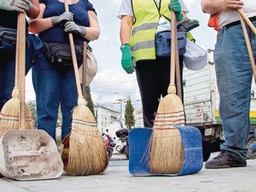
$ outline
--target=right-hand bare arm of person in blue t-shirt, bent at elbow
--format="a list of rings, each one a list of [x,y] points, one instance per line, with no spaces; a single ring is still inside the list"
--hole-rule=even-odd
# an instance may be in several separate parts
[[[93,11],[88,11],[90,27],[85,27],[86,34],[85,39],[93,41],[99,38],[100,36],[100,25],[97,19],[96,14]]]

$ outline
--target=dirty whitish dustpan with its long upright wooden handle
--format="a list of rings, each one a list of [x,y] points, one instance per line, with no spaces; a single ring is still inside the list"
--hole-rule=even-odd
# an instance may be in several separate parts
[[[0,138],[0,172],[6,178],[22,181],[58,178],[63,172],[63,163],[55,141],[43,130],[25,130],[24,13],[19,13],[18,22],[19,130],[9,130]]]

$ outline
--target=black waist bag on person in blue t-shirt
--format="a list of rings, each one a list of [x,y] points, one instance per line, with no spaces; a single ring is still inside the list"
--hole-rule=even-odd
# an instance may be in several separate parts
[[[73,68],[70,44],[44,42],[43,53],[46,59],[60,72]],[[82,62],[83,45],[75,45],[78,64]]]

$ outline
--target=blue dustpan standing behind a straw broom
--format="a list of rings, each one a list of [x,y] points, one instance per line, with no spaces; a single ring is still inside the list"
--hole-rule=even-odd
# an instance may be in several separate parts
[[[203,167],[203,152],[201,133],[198,128],[179,127],[184,149],[184,164],[179,174],[167,176],[182,176],[199,172]],[[149,142],[152,129],[135,128],[129,133],[129,172],[134,176],[154,176],[148,167]]]

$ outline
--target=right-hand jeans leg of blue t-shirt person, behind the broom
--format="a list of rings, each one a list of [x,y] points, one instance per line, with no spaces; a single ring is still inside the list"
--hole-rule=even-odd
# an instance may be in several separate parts
[[[64,76],[61,94],[61,112],[62,112],[62,140],[71,131],[72,109],[77,105],[78,93],[75,82],[74,71],[67,72]]]

